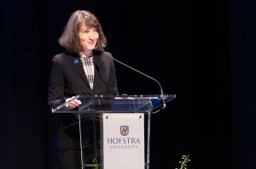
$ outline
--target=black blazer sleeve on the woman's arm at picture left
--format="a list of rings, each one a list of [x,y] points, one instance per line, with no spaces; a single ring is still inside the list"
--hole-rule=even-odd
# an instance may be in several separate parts
[[[48,86],[48,105],[55,107],[65,102],[64,75],[61,67],[60,55],[55,55],[51,62]]]

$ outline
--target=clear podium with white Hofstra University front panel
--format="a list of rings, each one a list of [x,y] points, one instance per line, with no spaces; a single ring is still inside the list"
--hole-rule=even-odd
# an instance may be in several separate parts
[[[52,113],[76,115],[82,169],[149,169],[151,115],[175,98],[175,94],[82,95],[73,98],[82,103],[77,109],[69,110],[65,103]],[[86,121],[93,130],[93,158],[89,162],[85,161],[87,148],[83,144]]]

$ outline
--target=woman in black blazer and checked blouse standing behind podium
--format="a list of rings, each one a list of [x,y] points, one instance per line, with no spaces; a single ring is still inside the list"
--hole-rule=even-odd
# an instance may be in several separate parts
[[[48,104],[55,107],[76,95],[118,94],[115,69],[111,55],[104,51],[107,39],[96,16],[90,11],[75,11],[59,39],[66,49],[52,59],[49,76]],[[108,55],[108,56],[107,56]],[[70,110],[81,102],[74,99],[67,104]],[[61,125],[56,148],[61,169],[81,168],[79,152],[78,119],[72,114],[61,115]],[[91,125],[86,127],[87,140],[83,145],[90,147]],[[90,152],[84,161],[90,161]]]

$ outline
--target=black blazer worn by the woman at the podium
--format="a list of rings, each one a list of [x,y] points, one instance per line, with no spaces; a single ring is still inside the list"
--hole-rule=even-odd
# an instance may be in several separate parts
[[[65,99],[75,95],[116,95],[118,94],[113,59],[110,53],[95,51],[95,80],[93,90],[85,76],[84,68],[78,54],[61,53],[52,59],[49,76],[48,104],[55,107],[65,102]],[[112,57],[112,56],[111,56]],[[77,147],[79,130],[75,115],[62,114],[58,147]],[[72,126],[72,127],[71,127]],[[91,127],[87,127],[90,132]],[[88,136],[89,137],[89,136]]]

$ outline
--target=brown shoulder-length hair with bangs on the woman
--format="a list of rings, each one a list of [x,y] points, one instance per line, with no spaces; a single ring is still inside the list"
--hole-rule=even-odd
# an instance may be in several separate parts
[[[96,28],[96,31],[99,33],[99,39],[95,49],[105,48],[107,45],[107,38],[102,31],[102,25],[96,16],[88,10],[77,10],[73,12],[59,39],[60,45],[71,53],[79,54],[79,52],[83,51],[84,47],[79,40],[79,28],[82,24],[89,28]]]

